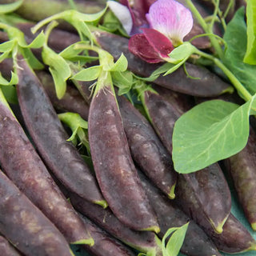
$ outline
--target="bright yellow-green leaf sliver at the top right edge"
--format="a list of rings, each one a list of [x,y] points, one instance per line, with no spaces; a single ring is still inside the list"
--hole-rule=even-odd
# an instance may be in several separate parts
[[[247,49],[244,62],[256,65],[256,1],[247,0],[246,6],[247,22]]]

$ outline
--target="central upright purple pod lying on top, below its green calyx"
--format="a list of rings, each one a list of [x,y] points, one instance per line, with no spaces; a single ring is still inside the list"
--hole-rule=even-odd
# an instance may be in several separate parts
[[[158,232],[158,222],[130,156],[121,114],[110,86],[94,95],[88,124],[94,170],[110,209],[134,230]]]

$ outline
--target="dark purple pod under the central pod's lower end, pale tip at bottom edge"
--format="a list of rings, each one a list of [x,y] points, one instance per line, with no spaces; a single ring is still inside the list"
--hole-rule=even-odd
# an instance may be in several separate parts
[[[69,194],[69,197],[71,204],[76,210],[90,218],[90,220],[115,238],[138,251],[151,253],[152,256],[162,255],[162,250],[159,246],[161,242],[154,232],[131,230],[120,222],[109,208],[103,209],[101,206],[87,202],[76,194]]]

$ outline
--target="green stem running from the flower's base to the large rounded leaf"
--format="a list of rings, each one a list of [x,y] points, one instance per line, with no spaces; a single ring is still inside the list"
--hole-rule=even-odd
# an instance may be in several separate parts
[[[242,83],[234,76],[234,74],[220,61],[220,59],[215,58],[214,56],[210,54],[206,54],[202,52],[201,50],[195,50],[195,54],[201,55],[204,58],[208,58],[214,62],[216,66],[218,66],[224,74],[226,74],[227,78],[230,79],[230,82],[232,82],[233,86],[236,90],[242,95],[242,98],[244,98],[247,101],[249,101],[252,98],[252,95],[249,93],[248,90],[244,86],[242,86]]]

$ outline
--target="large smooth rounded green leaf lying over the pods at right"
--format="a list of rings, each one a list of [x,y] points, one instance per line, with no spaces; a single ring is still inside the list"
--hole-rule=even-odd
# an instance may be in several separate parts
[[[242,150],[249,136],[253,100],[242,106],[212,100],[183,114],[174,125],[174,169],[188,174]]]

